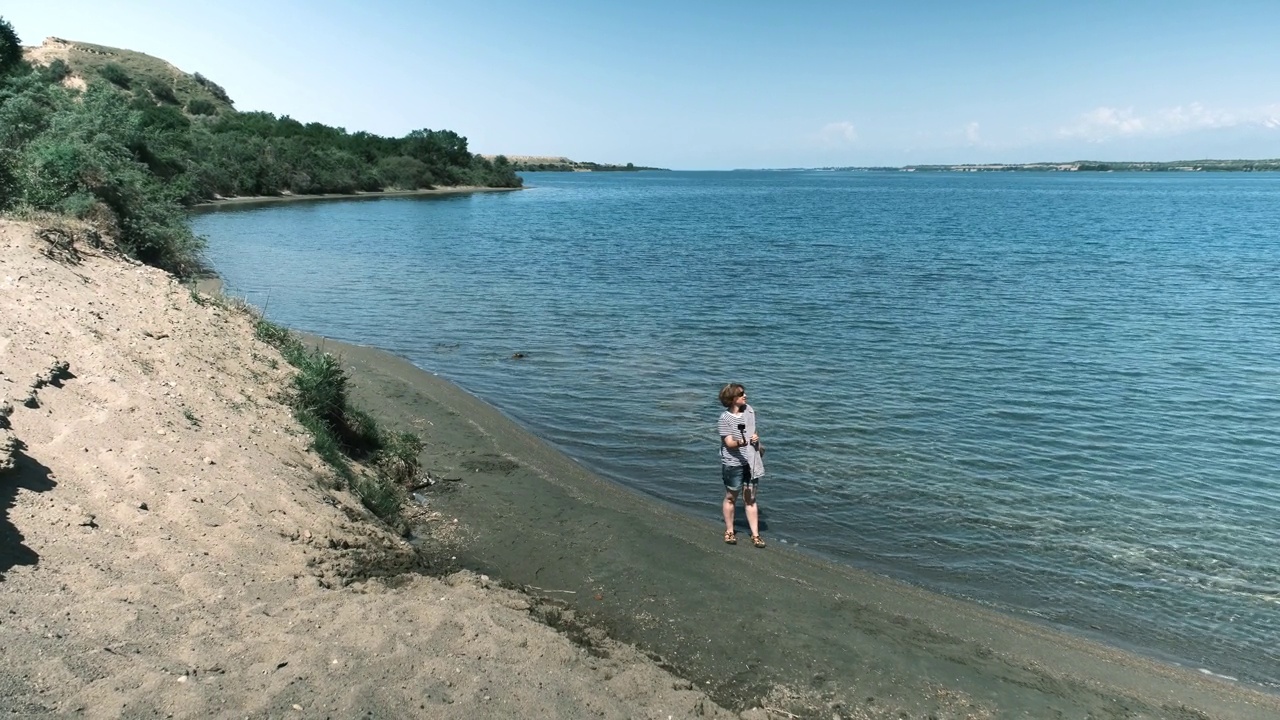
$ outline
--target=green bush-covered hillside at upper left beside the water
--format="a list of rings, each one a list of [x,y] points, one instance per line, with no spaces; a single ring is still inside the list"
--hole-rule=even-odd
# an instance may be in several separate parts
[[[142,53],[58,38],[24,53],[0,18],[0,213],[88,220],[179,275],[201,269],[186,209],[202,201],[520,184],[453,131],[239,113],[215,82]]]

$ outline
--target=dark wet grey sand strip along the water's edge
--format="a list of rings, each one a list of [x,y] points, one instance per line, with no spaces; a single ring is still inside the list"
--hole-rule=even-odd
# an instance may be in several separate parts
[[[357,404],[425,441],[453,562],[562,602],[727,707],[829,717],[1277,717],[1280,697],[722,528],[590,473],[388,352],[319,341]],[[708,514],[719,500],[707,473]],[[768,488],[762,488],[767,506]],[[780,715],[785,716],[785,715]]]

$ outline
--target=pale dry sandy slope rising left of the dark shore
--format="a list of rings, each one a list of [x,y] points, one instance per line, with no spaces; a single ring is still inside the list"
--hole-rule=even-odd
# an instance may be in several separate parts
[[[0,220],[0,712],[727,715],[488,578],[401,573],[420,557],[324,489],[244,315],[47,250]]]

